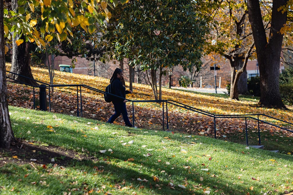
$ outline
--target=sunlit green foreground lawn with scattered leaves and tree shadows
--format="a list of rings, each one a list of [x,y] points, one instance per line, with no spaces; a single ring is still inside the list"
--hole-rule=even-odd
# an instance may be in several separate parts
[[[13,132],[22,141],[0,151],[0,194],[293,191],[291,155],[195,134],[12,106],[9,111]]]

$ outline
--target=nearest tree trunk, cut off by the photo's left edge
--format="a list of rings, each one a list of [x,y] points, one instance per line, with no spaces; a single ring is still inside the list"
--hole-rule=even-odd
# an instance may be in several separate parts
[[[9,148],[15,138],[11,128],[7,102],[3,1],[0,3],[0,32],[0,148]]]

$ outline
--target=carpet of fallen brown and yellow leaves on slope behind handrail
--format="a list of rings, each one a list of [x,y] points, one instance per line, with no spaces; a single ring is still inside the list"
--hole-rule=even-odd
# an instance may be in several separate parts
[[[36,80],[49,83],[47,73],[42,68],[32,68]],[[69,83],[70,82],[70,83]],[[79,74],[66,74],[56,71],[54,84],[86,84],[91,87],[103,90],[108,85],[109,80],[101,77],[93,77]],[[133,94],[127,95],[132,100],[152,100],[152,90],[147,85],[135,84]],[[38,102],[38,88],[36,88],[35,99]],[[274,108],[258,108],[254,106],[257,101],[236,101],[227,98],[213,97],[208,95],[188,93],[172,89],[163,88],[162,99],[172,99],[195,108],[208,111],[213,114],[256,114],[262,113],[281,120],[293,123],[292,107],[289,110],[279,110]],[[80,92],[79,92],[80,93]],[[48,92],[47,92],[48,95]],[[54,88],[50,94],[51,111],[77,116],[76,87]],[[80,99],[79,99],[80,101]],[[33,90],[31,87],[8,82],[8,103],[11,106],[18,106],[33,109]],[[38,103],[37,103],[38,104]],[[47,104],[48,106],[48,104]],[[37,106],[36,109],[39,107]],[[49,109],[49,107],[48,107]],[[164,128],[166,130],[166,106],[164,115]],[[103,94],[82,88],[82,110],[83,117],[106,122],[114,113],[112,103],[103,100]],[[132,121],[132,103],[127,103],[127,111]],[[80,113],[80,103],[79,103]],[[140,128],[162,130],[163,116],[162,104],[157,103],[134,103],[135,126]],[[257,118],[257,116],[255,116]],[[266,120],[266,118],[260,118]],[[276,123],[282,126],[283,123]],[[188,111],[173,105],[168,105],[168,122],[170,131],[180,131],[188,134],[198,134],[214,137],[214,121],[212,117]],[[118,125],[124,125],[120,116],[116,121]],[[255,120],[247,119],[247,127],[251,133],[258,132],[258,123]],[[291,130],[292,126],[284,126]],[[216,122],[216,136],[221,138],[229,137],[229,134],[239,134],[239,139],[244,139],[245,119],[222,118]],[[293,134],[277,127],[260,123],[261,132],[282,137],[292,137]]]

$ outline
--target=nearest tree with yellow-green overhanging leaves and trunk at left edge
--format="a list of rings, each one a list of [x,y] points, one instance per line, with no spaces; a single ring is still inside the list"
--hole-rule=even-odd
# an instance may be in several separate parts
[[[120,2],[125,4],[127,0]],[[103,32],[104,21],[111,18],[107,7],[116,6],[118,1],[19,0],[17,6],[16,1],[12,4],[13,9],[9,9],[8,5],[4,9],[4,1],[0,3],[0,147],[9,147],[14,141],[7,103],[4,55],[8,48],[4,47],[4,35],[8,39],[13,39],[16,46],[24,46],[25,42],[35,42],[39,47],[45,47],[54,38],[59,42],[71,43],[72,28],[76,26],[81,26],[89,33],[96,30]],[[41,25],[38,26],[37,23]],[[96,23],[99,24],[99,29]]]

